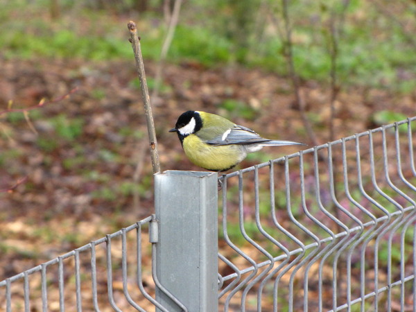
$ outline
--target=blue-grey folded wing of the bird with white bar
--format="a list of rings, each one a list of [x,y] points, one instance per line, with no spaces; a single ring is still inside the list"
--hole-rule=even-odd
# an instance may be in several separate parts
[[[213,146],[221,145],[248,145],[248,144],[259,144],[269,139],[264,139],[257,135],[253,130],[243,127],[242,125],[234,125],[233,128],[228,129],[220,135],[214,137],[214,139],[205,140],[205,143]]]

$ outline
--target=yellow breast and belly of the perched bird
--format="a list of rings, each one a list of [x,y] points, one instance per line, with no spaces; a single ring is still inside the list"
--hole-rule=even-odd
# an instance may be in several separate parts
[[[185,137],[183,148],[193,164],[211,171],[226,171],[239,164],[246,155],[240,146],[211,146],[196,135]]]

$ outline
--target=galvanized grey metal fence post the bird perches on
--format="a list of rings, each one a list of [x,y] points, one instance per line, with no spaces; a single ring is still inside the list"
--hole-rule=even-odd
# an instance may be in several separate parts
[[[157,279],[188,311],[218,311],[217,174],[157,173],[155,212]],[[182,311],[159,288],[156,300],[168,311]]]

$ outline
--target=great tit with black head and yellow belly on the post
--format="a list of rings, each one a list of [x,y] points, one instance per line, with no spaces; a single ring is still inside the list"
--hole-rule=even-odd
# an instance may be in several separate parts
[[[264,139],[242,125],[216,114],[189,110],[180,115],[175,128],[184,152],[197,166],[209,171],[227,171],[239,164],[247,153],[263,146],[304,145],[292,141]]]

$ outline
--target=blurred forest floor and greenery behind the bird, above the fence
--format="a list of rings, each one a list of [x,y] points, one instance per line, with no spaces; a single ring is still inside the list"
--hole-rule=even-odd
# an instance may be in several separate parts
[[[0,280],[153,211],[129,20],[162,170],[199,170],[186,110],[310,146],[415,114],[416,1],[0,0]]]

